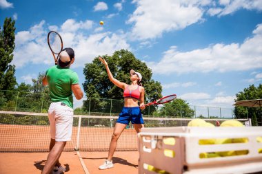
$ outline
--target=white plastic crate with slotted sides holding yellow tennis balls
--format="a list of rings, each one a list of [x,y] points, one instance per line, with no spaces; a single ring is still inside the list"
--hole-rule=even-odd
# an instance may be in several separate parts
[[[262,137],[262,127],[143,128],[138,137],[139,174],[262,173],[262,153],[259,153],[262,143],[256,140]],[[199,144],[199,140],[220,138],[247,138],[248,142]],[[173,139],[174,144],[165,144],[168,139]],[[248,154],[199,157],[201,153],[221,151],[248,151]]]

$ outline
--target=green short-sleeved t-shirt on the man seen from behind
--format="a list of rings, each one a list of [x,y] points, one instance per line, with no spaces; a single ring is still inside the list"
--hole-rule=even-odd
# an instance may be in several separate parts
[[[69,68],[55,65],[46,71],[46,77],[48,79],[51,101],[64,102],[68,107],[73,108],[71,85],[79,83],[77,73]]]

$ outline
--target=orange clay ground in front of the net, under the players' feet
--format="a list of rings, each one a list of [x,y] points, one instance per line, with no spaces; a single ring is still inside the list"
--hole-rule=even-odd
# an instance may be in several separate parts
[[[108,152],[85,152],[80,155],[90,174],[114,173],[135,174],[138,173],[139,152],[116,151],[113,157],[114,168],[99,170]],[[1,174],[35,174],[41,173],[48,153],[0,153]],[[60,157],[61,164],[66,167],[65,174],[85,174],[79,157],[75,151],[63,152]]]

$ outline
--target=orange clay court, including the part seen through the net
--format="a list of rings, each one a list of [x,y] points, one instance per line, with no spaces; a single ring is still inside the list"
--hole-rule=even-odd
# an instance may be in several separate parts
[[[77,129],[73,128],[72,141],[66,144],[60,158],[66,173],[138,173],[139,153],[134,129],[123,131],[113,158],[114,168],[105,171],[98,167],[108,155],[114,128],[81,127],[79,142]],[[1,173],[41,173],[48,156],[48,126],[0,124],[0,140]],[[74,150],[77,143],[79,155]]]

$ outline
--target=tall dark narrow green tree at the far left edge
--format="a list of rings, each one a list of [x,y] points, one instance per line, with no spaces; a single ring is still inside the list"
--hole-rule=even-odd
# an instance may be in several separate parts
[[[3,24],[3,30],[0,27],[0,90],[13,90],[17,85],[14,77],[15,66],[10,65],[14,51],[14,21],[6,18]],[[9,97],[10,96],[6,96]]]

